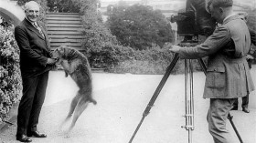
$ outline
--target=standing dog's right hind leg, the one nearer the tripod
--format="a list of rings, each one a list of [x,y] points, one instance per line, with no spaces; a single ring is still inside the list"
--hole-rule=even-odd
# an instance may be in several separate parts
[[[71,122],[71,125],[69,127],[69,131],[74,128],[78,118],[80,117],[81,113],[85,110],[85,108],[88,106],[89,104],[89,99],[87,97],[81,97],[80,101],[77,105],[77,107],[75,108],[74,114],[73,114],[73,120]]]

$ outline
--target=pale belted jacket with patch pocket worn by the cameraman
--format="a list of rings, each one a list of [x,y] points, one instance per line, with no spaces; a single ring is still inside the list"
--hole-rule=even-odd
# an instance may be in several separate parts
[[[216,27],[201,45],[181,48],[181,58],[208,56],[204,98],[245,97],[254,90],[246,55],[251,47],[248,27],[238,15]]]

